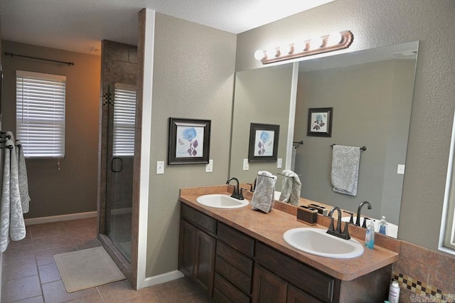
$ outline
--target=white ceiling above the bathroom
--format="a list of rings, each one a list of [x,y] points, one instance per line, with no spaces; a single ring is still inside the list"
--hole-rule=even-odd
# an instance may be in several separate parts
[[[138,12],[242,33],[334,0],[0,0],[1,38],[99,54],[103,39],[137,45]]]

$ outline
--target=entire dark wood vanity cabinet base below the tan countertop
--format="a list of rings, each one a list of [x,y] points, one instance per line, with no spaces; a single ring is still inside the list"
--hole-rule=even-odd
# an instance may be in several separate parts
[[[344,281],[181,203],[178,269],[213,302],[382,302],[392,265]]]

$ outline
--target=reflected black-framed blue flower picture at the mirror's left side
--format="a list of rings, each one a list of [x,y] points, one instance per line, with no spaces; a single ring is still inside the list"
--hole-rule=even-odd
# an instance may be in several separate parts
[[[279,125],[251,123],[248,161],[277,161],[278,139]]]

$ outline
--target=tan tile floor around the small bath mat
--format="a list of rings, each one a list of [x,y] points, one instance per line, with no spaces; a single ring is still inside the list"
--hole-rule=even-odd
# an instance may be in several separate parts
[[[96,218],[27,226],[26,238],[3,254],[1,302],[210,302],[185,277],[139,291],[123,280],[66,292],[53,255],[99,245]]]

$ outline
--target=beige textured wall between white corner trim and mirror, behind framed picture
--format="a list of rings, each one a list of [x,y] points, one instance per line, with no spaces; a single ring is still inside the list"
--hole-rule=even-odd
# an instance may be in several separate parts
[[[156,14],[146,277],[177,268],[179,188],[228,179],[235,39]],[[205,173],[205,164],[190,164],[165,165],[164,174],[155,174],[156,161],[167,163],[169,117],[212,120],[212,173]]]

